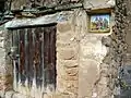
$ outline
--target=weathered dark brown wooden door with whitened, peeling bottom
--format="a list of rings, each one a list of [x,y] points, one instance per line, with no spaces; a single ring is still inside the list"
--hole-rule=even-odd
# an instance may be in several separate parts
[[[53,90],[56,26],[20,28],[12,32],[14,90],[23,89],[24,94],[36,89],[40,93],[47,88]]]

